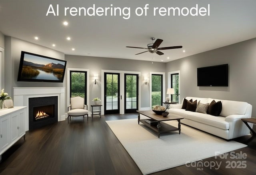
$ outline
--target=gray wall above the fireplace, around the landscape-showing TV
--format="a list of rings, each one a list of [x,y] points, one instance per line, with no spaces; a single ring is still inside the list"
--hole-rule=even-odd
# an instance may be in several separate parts
[[[64,60],[64,53],[26,42],[10,36],[5,36],[5,88],[13,97],[13,87],[65,87],[64,83],[48,82],[17,82],[21,51],[32,52],[52,58]]]

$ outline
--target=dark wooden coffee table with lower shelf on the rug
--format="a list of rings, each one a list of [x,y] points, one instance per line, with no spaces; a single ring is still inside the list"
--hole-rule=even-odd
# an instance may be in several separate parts
[[[158,133],[158,138],[160,137],[160,133],[165,133],[169,131],[179,131],[180,134],[180,120],[184,119],[184,117],[181,117],[180,115],[176,114],[169,114],[167,117],[164,117],[162,115],[157,115],[152,110],[147,111],[137,111],[139,113],[138,115],[138,124],[143,123],[147,127],[153,129]],[[149,117],[150,119],[153,119],[155,124],[149,124],[146,122],[147,119],[140,119],[140,114],[145,115],[146,117]],[[178,128],[174,127],[172,125],[168,125],[166,123],[163,123],[161,121],[170,121],[170,120],[177,120],[178,121]]]

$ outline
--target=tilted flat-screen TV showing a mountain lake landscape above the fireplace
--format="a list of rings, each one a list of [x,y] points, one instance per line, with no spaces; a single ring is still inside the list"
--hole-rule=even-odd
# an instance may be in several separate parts
[[[65,60],[22,51],[18,81],[63,82],[65,69]]]

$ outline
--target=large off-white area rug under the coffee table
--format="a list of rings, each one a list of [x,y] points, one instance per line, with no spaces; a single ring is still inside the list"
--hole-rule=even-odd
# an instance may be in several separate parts
[[[142,119],[142,117],[141,117]],[[197,129],[181,125],[181,133],[158,134],[138,119],[106,121],[143,174],[177,167],[200,159],[246,147],[236,141],[225,141]],[[178,126],[177,121],[166,123]]]

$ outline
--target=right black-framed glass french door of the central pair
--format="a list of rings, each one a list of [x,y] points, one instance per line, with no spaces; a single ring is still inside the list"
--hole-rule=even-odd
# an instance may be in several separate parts
[[[138,110],[138,74],[124,74],[124,113]]]

